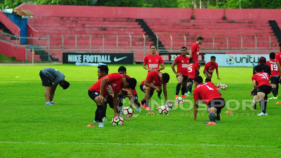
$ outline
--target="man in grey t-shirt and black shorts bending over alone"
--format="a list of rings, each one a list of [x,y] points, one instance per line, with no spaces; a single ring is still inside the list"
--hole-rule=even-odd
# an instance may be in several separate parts
[[[67,89],[69,87],[69,82],[65,80],[65,76],[63,73],[59,72],[54,68],[48,67],[44,68],[39,72],[39,76],[42,80],[42,86],[45,86],[45,105],[53,105],[56,102],[53,101],[56,86],[61,86],[63,89]],[[53,84],[54,83],[54,84]]]

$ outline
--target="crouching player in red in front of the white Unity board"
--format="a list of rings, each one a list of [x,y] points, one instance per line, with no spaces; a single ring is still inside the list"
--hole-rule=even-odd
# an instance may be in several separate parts
[[[218,65],[216,63],[216,57],[215,56],[211,56],[211,61],[207,62],[205,64],[205,68],[203,70],[203,73],[205,74],[205,82],[211,82],[211,78],[213,76],[213,72],[216,69],[216,73],[217,73],[217,79],[221,80],[219,77],[219,71],[217,70]]]

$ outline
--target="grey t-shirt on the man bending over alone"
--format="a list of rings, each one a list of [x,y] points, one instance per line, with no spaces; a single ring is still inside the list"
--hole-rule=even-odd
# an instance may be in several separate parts
[[[42,73],[49,78],[49,81],[55,84],[60,84],[64,80],[64,74],[52,67],[47,67],[41,70]]]

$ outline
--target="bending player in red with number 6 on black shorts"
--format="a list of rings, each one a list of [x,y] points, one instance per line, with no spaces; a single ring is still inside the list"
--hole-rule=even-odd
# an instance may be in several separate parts
[[[113,94],[113,110],[114,116],[119,116],[117,113],[117,102],[118,94],[122,88],[132,88],[136,87],[137,81],[134,78],[123,78],[121,74],[112,73],[102,77],[95,84],[93,84],[89,90],[89,97],[95,101],[97,105],[97,110],[95,112],[95,120],[93,123],[98,123],[99,127],[104,127],[102,121],[102,112],[105,96]]]

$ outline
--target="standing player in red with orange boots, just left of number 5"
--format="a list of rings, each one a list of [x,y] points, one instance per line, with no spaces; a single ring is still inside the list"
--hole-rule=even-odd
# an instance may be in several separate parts
[[[174,62],[171,65],[172,70],[176,74],[178,80],[175,98],[179,96],[180,88],[181,88],[181,97],[187,97],[186,95],[184,95],[186,91],[187,80],[188,80],[188,63],[189,63],[189,57],[186,56],[186,53],[187,53],[187,48],[181,47],[181,55],[177,56],[177,58],[175,58]],[[175,70],[176,64],[177,64],[177,71]]]

